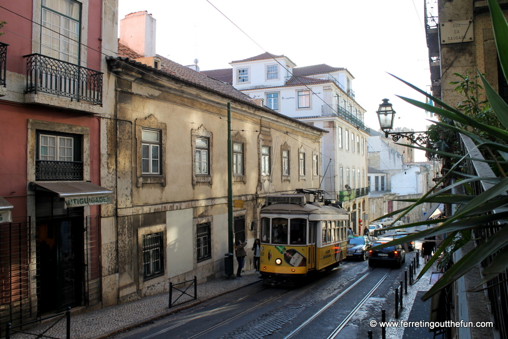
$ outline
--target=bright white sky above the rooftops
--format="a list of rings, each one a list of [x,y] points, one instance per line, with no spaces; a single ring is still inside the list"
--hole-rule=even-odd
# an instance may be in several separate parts
[[[424,1],[119,0],[118,18],[152,14],[156,53],[183,65],[198,59],[202,71],[265,51],[297,66],[345,67],[355,77],[366,125],[379,129],[375,111],[388,98],[397,112],[394,127],[421,131],[430,124],[425,112],[396,95],[425,97],[389,73],[430,91]]]

